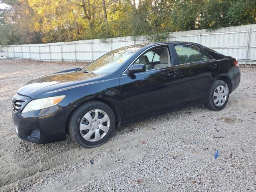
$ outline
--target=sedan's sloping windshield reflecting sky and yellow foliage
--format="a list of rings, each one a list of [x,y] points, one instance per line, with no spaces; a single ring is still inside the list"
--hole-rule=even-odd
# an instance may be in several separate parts
[[[94,62],[90,63],[88,66],[84,67],[81,71],[93,73],[112,73],[126,60],[128,60],[135,52],[144,46],[145,44],[140,44],[110,51]]]

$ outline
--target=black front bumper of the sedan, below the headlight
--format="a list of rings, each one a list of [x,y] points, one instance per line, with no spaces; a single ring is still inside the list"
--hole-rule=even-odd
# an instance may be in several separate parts
[[[12,110],[12,120],[19,138],[40,144],[66,140],[66,122],[74,107],[56,105],[20,113],[31,99],[18,94],[14,97],[27,101],[17,112]]]

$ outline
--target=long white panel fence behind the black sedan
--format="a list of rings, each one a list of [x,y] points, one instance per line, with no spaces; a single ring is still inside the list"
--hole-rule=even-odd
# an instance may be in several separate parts
[[[256,24],[220,28],[214,31],[192,30],[172,32],[167,41],[196,42],[226,56],[239,60],[240,64],[256,64]],[[27,58],[51,61],[92,61],[103,54],[128,45],[148,42],[141,37],[108,38],[59,42],[49,44],[2,46],[7,58]]]

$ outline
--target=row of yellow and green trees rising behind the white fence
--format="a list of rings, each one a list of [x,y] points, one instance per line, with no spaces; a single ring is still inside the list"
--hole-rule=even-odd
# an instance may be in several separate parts
[[[169,32],[256,23],[252,0],[2,0],[1,44],[119,36],[165,41]]]

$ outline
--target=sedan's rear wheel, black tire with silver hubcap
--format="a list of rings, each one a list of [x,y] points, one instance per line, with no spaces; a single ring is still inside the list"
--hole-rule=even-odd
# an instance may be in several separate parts
[[[219,93],[220,94],[219,94]],[[216,80],[212,87],[210,88],[207,103],[205,104],[206,108],[220,111],[222,110],[229,98],[229,88],[226,82],[222,80]]]

